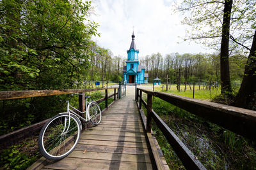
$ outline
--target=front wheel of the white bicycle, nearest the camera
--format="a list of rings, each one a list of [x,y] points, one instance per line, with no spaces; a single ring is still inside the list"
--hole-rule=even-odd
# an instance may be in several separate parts
[[[68,113],[56,115],[40,131],[39,150],[46,159],[63,159],[76,147],[80,131],[77,117],[70,115],[69,118]]]

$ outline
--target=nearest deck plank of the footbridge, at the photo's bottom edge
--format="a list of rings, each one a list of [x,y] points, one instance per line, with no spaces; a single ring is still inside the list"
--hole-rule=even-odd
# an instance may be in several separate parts
[[[150,163],[123,162],[115,160],[74,159],[67,157],[45,166],[52,169],[153,169]]]

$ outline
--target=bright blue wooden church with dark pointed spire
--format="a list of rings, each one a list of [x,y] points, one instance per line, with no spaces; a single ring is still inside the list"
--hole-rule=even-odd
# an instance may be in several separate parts
[[[145,67],[141,66],[138,60],[139,50],[136,49],[134,38],[134,32],[132,32],[132,43],[130,49],[127,50],[128,59],[125,61],[123,78],[127,83],[148,83],[148,74],[145,73]]]

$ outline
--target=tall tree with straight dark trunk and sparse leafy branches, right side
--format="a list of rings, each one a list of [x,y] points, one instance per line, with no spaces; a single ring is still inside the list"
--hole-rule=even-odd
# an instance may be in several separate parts
[[[183,21],[192,27],[186,40],[199,40],[216,50],[221,45],[221,94],[231,91],[228,57],[234,52],[250,50],[246,45],[252,41],[253,29],[250,29],[250,24],[255,22],[253,8],[254,0],[186,0],[178,8],[180,11],[191,12]],[[232,42],[229,44],[230,40]]]

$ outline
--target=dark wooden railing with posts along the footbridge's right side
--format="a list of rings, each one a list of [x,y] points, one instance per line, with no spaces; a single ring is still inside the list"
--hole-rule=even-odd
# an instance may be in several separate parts
[[[142,99],[142,92],[147,94],[147,103]],[[214,124],[221,125],[222,127],[236,132],[241,136],[254,141],[256,139],[256,111],[136,88],[135,99],[138,101],[140,111],[142,104],[147,108],[146,131],[148,133],[151,131],[151,121],[153,119],[156,122],[157,127],[159,127],[163,132],[175,153],[177,153],[177,156],[182,161],[182,164],[184,164],[186,169],[205,169],[205,167],[174,134],[168,125],[164,123],[157,113],[152,110],[153,96],[159,97],[160,99],[189,111],[198,117],[205,118],[205,120]]]

